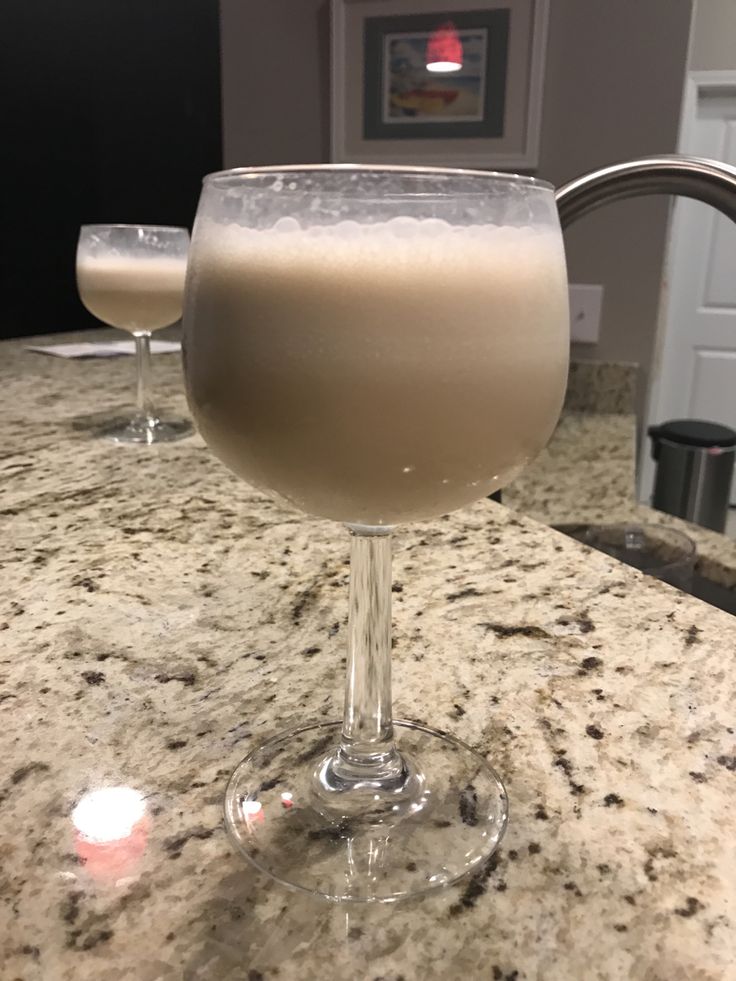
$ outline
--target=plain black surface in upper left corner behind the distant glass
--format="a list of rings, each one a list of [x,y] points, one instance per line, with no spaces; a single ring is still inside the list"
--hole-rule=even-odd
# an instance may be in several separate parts
[[[217,0],[2,0],[0,336],[93,326],[79,225],[191,225],[221,166]]]

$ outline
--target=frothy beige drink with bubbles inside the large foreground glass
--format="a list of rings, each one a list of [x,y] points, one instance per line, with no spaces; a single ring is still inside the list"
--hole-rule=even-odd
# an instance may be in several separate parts
[[[555,426],[569,320],[552,229],[200,219],[190,277],[200,431],[302,510],[436,516],[506,483]]]

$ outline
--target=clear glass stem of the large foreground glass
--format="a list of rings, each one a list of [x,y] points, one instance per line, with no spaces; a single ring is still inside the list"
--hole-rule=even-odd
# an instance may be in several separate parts
[[[391,528],[350,527],[347,681],[340,757],[360,770],[399,762],[391,723]]]

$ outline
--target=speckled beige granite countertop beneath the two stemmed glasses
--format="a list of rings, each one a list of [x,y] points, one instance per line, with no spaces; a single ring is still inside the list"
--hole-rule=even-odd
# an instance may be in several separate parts
[[[154,371],[182,410],[178,357]],[[488,755],[509,830],[422,901],[300,896],[221,799],[254,741],[339,714],[346,536],[199,437],[95,439],[131,360],[4,343],[0,384],[3,978],[736,977],[732,617],[491,502],[403,529],[396,713]],[[112,850],[70,819],[110,786],[146,806]]]

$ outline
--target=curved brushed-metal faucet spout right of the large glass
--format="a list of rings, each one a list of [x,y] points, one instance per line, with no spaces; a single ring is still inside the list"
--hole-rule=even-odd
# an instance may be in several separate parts
[[[559,188],[555,200],[565,228],[609,201],[647,194],[695,198],[736,221],[736,167],[677,154],[642,157],[591,171]]]

